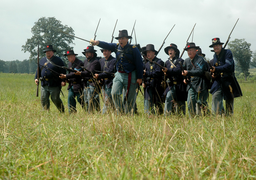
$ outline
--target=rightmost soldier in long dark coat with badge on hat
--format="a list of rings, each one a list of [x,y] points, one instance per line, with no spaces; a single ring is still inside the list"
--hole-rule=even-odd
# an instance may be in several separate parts
[[[225,113],[223,108],[223,98],[226,103],[226,115],[234,114],[234,98],[240,97],[242,91],[235,77],[235,62],[233,54],[229,49],[222,47],[224,43],[220,38],[213,38],[212,45],[215,54],[213,55],[214,82],[210,93],[212,94],[212,112],[218,114]]]

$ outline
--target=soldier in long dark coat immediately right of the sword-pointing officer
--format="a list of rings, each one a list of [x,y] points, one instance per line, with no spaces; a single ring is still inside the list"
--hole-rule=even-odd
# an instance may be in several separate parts
[[[163,88],[161,86],[163,71],[154,62],[157,62],[161,66],[164,66],[164,62],[156,57],[158,52],[155,50],[153,44],[148,44],[143,54],[147,54],[147,58],[149,59],[143,74],[147,79],[147,84],[144,84],[144,88],[146,88],[144,111],[148,115],[155,113],[155,105],[156,111],[160,115],[163,113],[163,101],[161,98],[163,94]]]

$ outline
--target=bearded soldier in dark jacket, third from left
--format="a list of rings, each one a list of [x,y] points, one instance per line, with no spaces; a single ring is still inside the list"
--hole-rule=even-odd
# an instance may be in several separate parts
[[[96,50],[93,46],[88,46],[82,52],[86,59],[84,60],[85,71],[77,71],[76,75],[81,75],[84,77],[84,102],[88,112],[92,112],[94,109],[100,111],[100,87],[99,83],[95,78],[93,78],[96,73],[95,70],[100,71],[100,61],[96,59]]]

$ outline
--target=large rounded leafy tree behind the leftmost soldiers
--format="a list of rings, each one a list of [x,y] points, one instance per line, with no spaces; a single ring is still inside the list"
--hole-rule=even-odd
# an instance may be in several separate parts
[[[37,62],[37,46],[39,43],[39,59],[45,56],[43,50],[49,44],[52,44],[56,50],[56,55],[60,56],[65,54],[67,50],[73,49],[70,44],[74,44],[74,37],[64,34],[60,31],[67,32],[68,34],[74,34],[74,30],[67,25],[62,25],[61,21],[54,17],[39,18],[35,25],[32,27],[32,37],[27,39],[25,45],[22,45],[22,51],[29,52],[29,61]],[[67,61],[67,60],[66,60]]]

